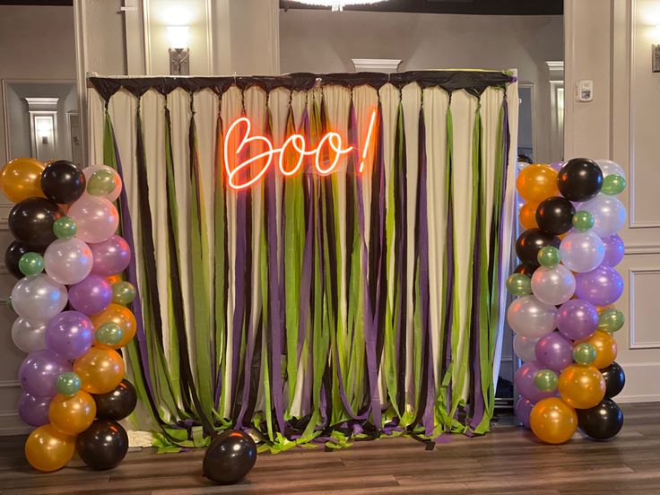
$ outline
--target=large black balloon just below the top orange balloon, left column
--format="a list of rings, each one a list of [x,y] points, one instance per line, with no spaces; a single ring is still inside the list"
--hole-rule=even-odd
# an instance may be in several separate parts
[[[56,239],[53,223],[63,214],[52,201],[30,197],[14,204],[9,213],[9,230],[12,230],[13,237],[30,246],[46,248]]]

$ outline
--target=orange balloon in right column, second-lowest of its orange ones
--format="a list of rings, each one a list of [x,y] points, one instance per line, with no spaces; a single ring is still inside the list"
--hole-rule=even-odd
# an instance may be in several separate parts
[[[560,373],[561,399],[576,409],[589,409],[605,396],[605,379],[594,366],[571,364]]]

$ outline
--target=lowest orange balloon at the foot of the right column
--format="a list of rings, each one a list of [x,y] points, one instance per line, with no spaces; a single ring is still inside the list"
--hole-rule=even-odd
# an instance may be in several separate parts
[[[560,444],[569,441],[575,433],[577,414],[557,397],[550,397],[534,405],[529,415],[529,425],[539,439]]]

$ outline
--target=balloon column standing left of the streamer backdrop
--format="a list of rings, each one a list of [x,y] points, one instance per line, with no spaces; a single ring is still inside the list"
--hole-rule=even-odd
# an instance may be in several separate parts
[[[93,468],[117,465],[128,449],[117,421],[136,400],[117,352],[135,335],[125,306],[135,287],[108,280],[131,256],[115,235],[121,179],[105,165],[16,159],[0,170],[0,188],[16,203],[9,214],[15,240],[4,260],[20,279],[10,298],[18,315],[13,342],[28,353],[18,410],[36,429],[25,456],[44,472],[65,466],[76,450]]]

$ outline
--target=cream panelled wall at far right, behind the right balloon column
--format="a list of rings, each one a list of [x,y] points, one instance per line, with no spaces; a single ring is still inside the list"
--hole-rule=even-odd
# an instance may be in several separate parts
[[[567,156],[611,158],[628,175],[626,256],[617,267],[626,283],[617,307],[627,318],[615,334],[628,378],[620,399],[659,401],[660,74],[651,72],[651,44],[660,42],[660,1],[565,0],[564,13]],[[594,81],[594,101],[573,100],[580,79]]]

